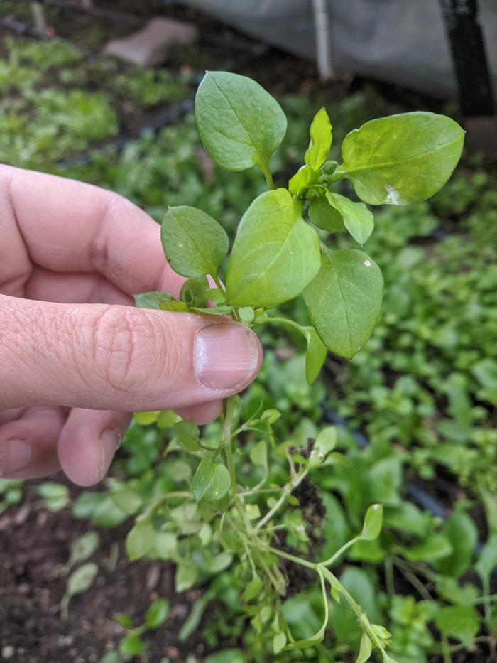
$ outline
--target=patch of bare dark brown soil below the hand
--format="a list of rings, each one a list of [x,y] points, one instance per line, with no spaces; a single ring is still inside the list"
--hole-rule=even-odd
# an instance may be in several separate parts
[[[126,634],[114,616],[126,613],[133,625],[140,625],[158,597],[170,600],[171,612],[162,627],[144,637],[149,647],[146,660],[202,660],[200,637],[194,634],[186,644],[178,642],[178,631],[200,591],[176,594],[173,566],[168,563],[130,563],[124,551],[126,524],[99,530],[100,545],[90,558],[99,567],[97,578],[86,593],[71,599],[67,622],[61,619],[67,576],[58,573],[72,541],[87,529],[88,524],[73,519],[70,510],[47,512],[35,495],[0,518],[0,660],[96,663]]]

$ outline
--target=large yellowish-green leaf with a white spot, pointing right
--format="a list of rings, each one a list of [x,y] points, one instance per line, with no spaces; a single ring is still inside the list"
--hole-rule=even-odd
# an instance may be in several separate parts
[[[447,182],[463,143],[464,131],[443,115],[415,112],[381,117],[345,136],[341,170],[365,203],[416,203]]]

